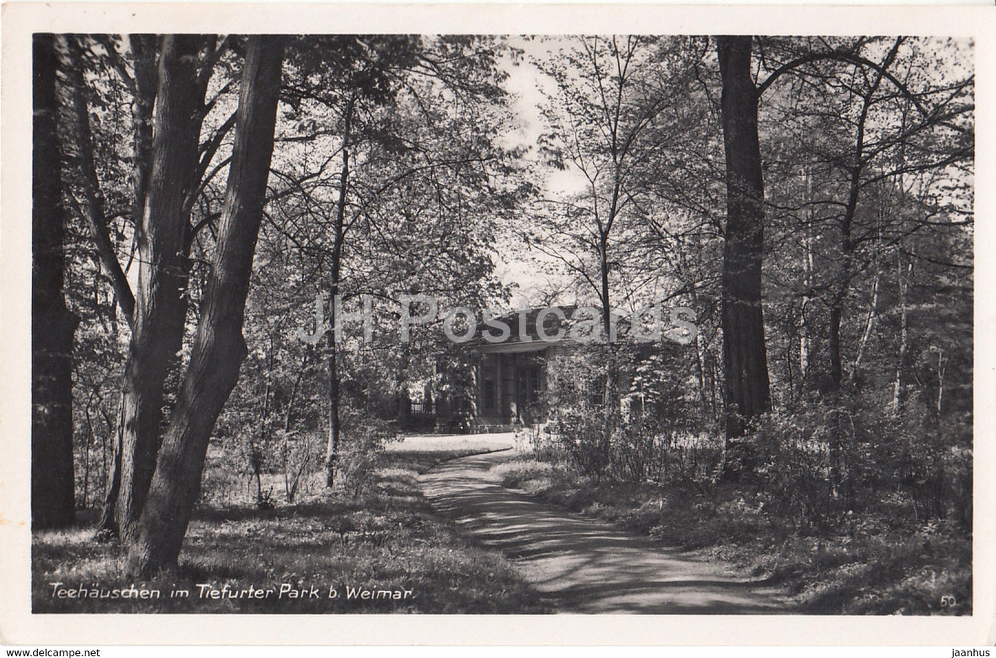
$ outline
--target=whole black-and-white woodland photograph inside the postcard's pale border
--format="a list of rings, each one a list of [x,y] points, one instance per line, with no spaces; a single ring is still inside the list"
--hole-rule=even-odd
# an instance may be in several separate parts
[[[633,11],[29,31],[33,618],[991,613],[976,38]]]

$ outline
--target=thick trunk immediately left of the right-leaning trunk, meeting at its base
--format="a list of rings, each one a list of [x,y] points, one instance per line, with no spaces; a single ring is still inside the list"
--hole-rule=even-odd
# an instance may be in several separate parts
[[[186,316],[185,186],[197,164],[202,37],[162,39],[145,206],[138,223],[138,286],[124,369],[116,472],[102,532],[131,537],[155,468],[166,374],[180,350]],[[118,470],[120,469],[120,471]],[[116,490],[117,489],[117,490]]]

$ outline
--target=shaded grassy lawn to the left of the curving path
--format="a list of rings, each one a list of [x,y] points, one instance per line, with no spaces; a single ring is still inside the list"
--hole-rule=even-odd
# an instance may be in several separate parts
[[[316,487],[317,493],[293,505],[278,504],[275,509],[257,509],[248,503],[202,503],[190,523],[178,570],[147,581],[121,576],[121,549],[95,543],[89,524],[35,533],[33,610],[551,611],[501,556],[471,545],[421,497],[418,472],[444,458],[467,454],[467,446],[441,442],[434,448],[428,443],[415,449],[405,449],[403,444],[391,448],[373,486],[357,499]],[[211,468],[215,470],[208,481],[217,487],[225,478],[216,470],[217,463]],[[245,488],[244,482],[231,482],[230,486]],[[55,595],[53,582],[71,589],[82,585],[88,590],[103,590],[109,596],[61,598]],[[111,598],[113,589],[130,590],[132,585],[136,590],[158,589],[159,597]],[[335,598],[329,596],[332,588],[336,589]],[[269,594],[268,589],[272,590]],[[171,596],[176,590],[187,590],[189,595]],[[219,591],[217,598],[212,597],[212,590]],[[364,590],[373,593],[364,597]],[[233,598],[230,591],[242,595]]]

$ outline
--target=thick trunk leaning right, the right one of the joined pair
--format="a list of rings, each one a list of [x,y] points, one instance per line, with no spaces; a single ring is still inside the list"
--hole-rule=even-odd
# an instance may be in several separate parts
[[[218,247],[190,365],[128,552],[133,573],[176,564],[211,430],[246,355],[242,323],[273,154],[282,59],[280,38],[249,39]]]

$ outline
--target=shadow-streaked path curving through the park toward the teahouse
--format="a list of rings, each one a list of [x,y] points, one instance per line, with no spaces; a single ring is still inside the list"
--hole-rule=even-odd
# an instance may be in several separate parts
[[[504,450],[452,459],[419,481],[433,507],[511,558],[558,611],[788,611],[775,587],[502,487],[489,469],[508,456]]]

